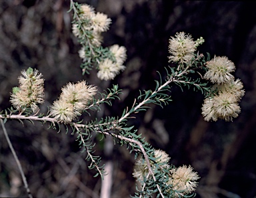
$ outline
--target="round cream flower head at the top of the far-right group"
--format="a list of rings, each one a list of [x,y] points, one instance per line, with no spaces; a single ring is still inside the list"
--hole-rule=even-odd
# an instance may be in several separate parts
[[[206,68],[208,70],[204,78],[213,83],[223,84],[234,78],[230,72],[235,70],[235,64],[226,56],[214,56],[212,60],[207,62]]]

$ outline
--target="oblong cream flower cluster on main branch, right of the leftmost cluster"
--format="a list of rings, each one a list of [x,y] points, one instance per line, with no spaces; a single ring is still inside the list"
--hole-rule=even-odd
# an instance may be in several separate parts
[[[89,106],[96,92],[97,88],[87,85],[84,80],[76,84],[69,82],[62,88],[59,100],[53,102],[50,116],[53,116],[58,122],[71,122]]]

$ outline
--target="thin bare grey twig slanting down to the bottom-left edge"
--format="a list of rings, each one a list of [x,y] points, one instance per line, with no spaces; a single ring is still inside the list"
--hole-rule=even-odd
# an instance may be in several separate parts
[[[21,177],[22,177],[25,189],[27,190],[27,194],[29,195],[29,198],[33,198],[33,196],[31,195],[30,189],[29,189],[29,185],[27,185],[27,179],[26,179],[25,174],[23,172],[23,169],[21,167],[21,163],[19,162],[19,159],[16,155],[15,149],[13,148],[13,145],[11,144],[11,141],[10,141],[9,136],[7,134],[7,131],[5,129],[5,124],[3,124],[2,119],[0,119],[0,121],[1,121],[2,128],[3,128],[3,133],[5,134],[5,138],[7,140],[7,143],[9,145],[9,148],[11,149],[11,153],[13,153],[13,157],[14,157],[14,159],[15,159],[18,167],[19,167],[19,172],[21,173]]]

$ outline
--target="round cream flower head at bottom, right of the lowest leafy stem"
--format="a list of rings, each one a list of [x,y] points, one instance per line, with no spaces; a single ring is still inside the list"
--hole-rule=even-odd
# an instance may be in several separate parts
[[[195,191],[198,184],[197,179],[200,177],[197,172],[193,171],[193,167],[183,165],[170,172],[172,178],[169,180],[169,185],[172,185],[172,189],[175,190],[175,197],[183,197]]]

